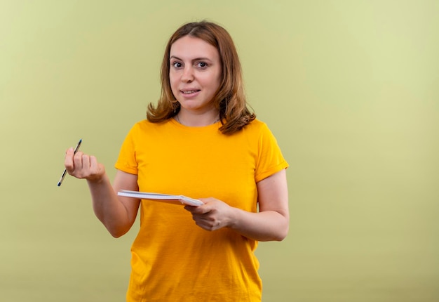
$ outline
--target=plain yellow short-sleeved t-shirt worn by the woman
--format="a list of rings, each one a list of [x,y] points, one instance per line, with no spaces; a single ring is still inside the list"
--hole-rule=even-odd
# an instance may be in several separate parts
[[[143,192],[215,197],[256,212],[256,183],[288,164],[266,124],[255,120],[233,135],[219,126],[139,122],[116,169],[137,174]],[[199,228],[179,202],[142,200],[127,301],[261,301],[256,247],[228,228]]]

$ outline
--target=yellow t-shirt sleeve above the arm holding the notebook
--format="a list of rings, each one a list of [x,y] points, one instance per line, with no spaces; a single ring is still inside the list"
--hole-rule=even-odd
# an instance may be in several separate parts
[[[266,124],[262,124],[259,134],[255,181],[267,178],[282,169],[288,168],[276,138]]]

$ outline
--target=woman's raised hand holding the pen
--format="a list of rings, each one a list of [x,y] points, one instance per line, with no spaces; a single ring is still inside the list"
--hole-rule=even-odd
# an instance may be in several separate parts
[[[86,178],[95,182],[102,180],[105,175],[103,164],[97,162],[93,155],[86,155],[81,151],[74,153],[71,147],[65,153],[64,166],[67,173],[76,178]]]

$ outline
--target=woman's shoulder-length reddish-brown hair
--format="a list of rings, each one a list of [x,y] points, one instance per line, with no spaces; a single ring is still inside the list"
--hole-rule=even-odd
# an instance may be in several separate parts
[[[217,93],[212,100],[219,110],[222,126],[219,128],[224,134],[235,133],[243,129],[255,119],[255,114],[248,109],[243,88],[241,63],[239,62],[234,41],[223,27],[208,21],[191,22],[182,25],[170,37],[166,46],[161,65],[161,97],[156,106],[148,105],[147,119],[149,122],[164,122],[174,117],[180,111],[180,103],[175,99],[170,88],[170,48],[175,41],[191,36],[215,46],[219,53],[222,65],[222,78]]]

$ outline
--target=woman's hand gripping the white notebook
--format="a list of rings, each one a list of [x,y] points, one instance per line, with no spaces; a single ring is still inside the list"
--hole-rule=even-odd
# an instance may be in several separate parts
[[[184,209],[191,212],[196,225],[209,231],[229,226],[234,208],[213,197],[200,200],[204,202],[202,206],[184,206]]]

